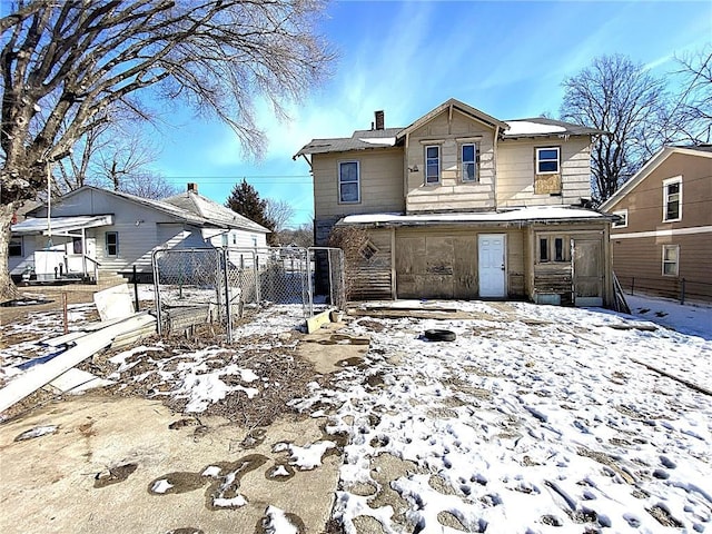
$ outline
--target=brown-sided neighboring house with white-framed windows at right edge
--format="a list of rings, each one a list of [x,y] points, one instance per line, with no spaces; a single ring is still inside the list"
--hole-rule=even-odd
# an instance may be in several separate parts
[[[664,147],[601,209],[626,293],[712,301],[712,146]]]

